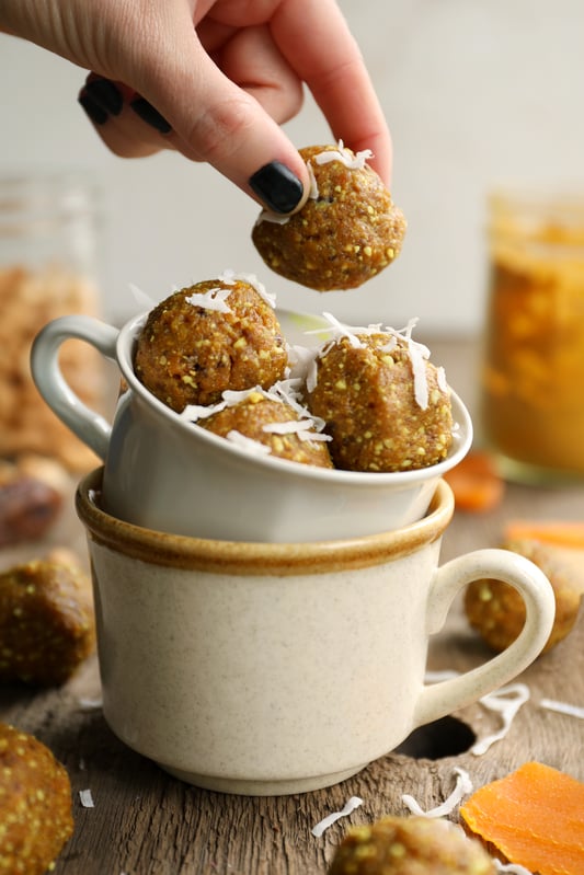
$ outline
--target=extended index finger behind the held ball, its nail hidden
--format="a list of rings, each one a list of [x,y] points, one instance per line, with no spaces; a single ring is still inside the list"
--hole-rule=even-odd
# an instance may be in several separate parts
[[[370,149],[389,185],[389,128],[365,61],[334,0],[283,0],[272,20],[279,50],[322,110],[333,136],[354,151]]]

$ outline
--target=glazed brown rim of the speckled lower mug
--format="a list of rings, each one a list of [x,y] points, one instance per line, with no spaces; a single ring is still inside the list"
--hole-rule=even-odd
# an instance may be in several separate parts
[[[454,514],[453,492],[440,480],[426,516],[402,529],[306,543],[216,541],[153,531],[105,514],[98,504],[102,477],[103,468],[95,469],[76,492],[76,510],[91,541],[151,565],[215,574],[286,577],[381,565],[436,541]]]

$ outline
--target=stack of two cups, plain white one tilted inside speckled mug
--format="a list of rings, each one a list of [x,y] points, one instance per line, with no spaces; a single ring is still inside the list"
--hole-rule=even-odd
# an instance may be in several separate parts
[[[228,793],[274,795],[336,783],[416,726],[523,670],[553,620],[545,576],[509,552],[439,566],[454,511],[440,479],[472,427],[453,394],[448,458],[357,473],[250,456],[193,426],[136,378],[145,316],[121,331],[50,323],[32,355],[53,410],[101,459],[79,485],[95,589],[105,717],[172,774]],[[78,337],[122,375],[114,422],[85,407],[58,366]],[[470,580],[520,591],[527,622],[503,654],[424,686],[428,635]]]

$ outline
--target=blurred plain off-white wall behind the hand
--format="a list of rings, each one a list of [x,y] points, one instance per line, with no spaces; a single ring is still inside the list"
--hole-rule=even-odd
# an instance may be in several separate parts
[[[318,0],[316,0],[318,2]],[[424,334],[480,330],[485,194],[501,181],[579,187],[584,176],[581,0],[341,0],[394,141],[392,193],[409,219],[400,258],[359,290],[319,296],[275,276],[250,240],[257,208],[207,166],[174,154],[111,156],[77,104],[84,71],[0,35],[0,173],[82,166],[104,188],[100,280],[106,315],[227,267],[278,303]],[[331,141],[307,95],[287,126]],[[584,187],[584,186],[583,186]]]

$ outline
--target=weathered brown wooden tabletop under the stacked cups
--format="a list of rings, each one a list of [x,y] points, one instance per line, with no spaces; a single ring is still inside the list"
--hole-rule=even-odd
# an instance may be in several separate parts
[[[434,342],[432,348],[433,360],[445,364],[451,384],[473,412],[476,344]],[[455,514],[442,559],[496,545],[503,522],[511,517],[582,519],[584,486],[542,490],[508,484],[495,511]],[[46,543],[0,553],[2,567],[39,555],[49,544],[67,544],[85,555],[72,503]],[[583,654],[581,618],[561,644],[520,676],[530,698],[508,735],[482,756],[470,752],[472,740],[497,729],[500,716],[477,703],[419,730],[400,752],[377,760],[351,780],[294,796],[249,798],[198,790],[134,753],[116,739],[94,705],[100,695],[95,658],[58,690],[4,687],[0,718],[35,734],[69,772],[76,827],[56,875],[324,875],[350,825],[406,814],[404,793],[423,808],[433,807],[454,788],[457,767],[467,770],[476,787],[527,760],[584,780],[584,721],[540,705],[543,698],[584,705]],[[428,667],[466,670],[490,656],[457,602],[432,642]],[[91,790],[94,807],[81,805],[83,790]],[[312,827],[342,809],[351,796],[360,797],[362,806],[314,838]]]

